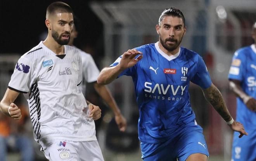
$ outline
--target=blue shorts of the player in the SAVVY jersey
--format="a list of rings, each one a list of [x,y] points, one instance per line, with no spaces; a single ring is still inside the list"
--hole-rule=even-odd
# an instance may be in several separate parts
[[[176,136],[169,137],[161,143],[141,142],[144,161],[185,161],[191,154],[201,153],[209,156],[202,127],[186,125]]]

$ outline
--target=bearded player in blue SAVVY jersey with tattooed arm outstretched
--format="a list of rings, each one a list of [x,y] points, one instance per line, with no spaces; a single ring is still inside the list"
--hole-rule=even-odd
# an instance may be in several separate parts
[[[173,7],[165,9],[156,31],[158,42],[128,50],[102,69],[97,82],[108,84],[122,75],[133,78],[144,161],[207,161],[206,141],[190,105],[190,81],[202,88],[230,128],[240,132],[239,137],[247,132],[229,114],[202,58],[180,47],[186,32],[182,12]]]

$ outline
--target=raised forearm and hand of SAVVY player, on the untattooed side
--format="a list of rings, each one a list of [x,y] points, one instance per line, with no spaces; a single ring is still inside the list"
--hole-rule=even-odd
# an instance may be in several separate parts
[[[107,85],[115,80],[118,75],[127,68],[134,66],[140,59],[142,59],[142,55],[135,57],[138,54],[142,54],[140,51],[136,49],[131,49],[126,51],[120,60],[120,63],[117,66],[107,67],[100,71],[100,75],[98,76],[97,83],[100,85]]]

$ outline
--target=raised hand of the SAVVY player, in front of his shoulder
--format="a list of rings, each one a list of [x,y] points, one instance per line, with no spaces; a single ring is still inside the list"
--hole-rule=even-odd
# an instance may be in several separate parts
[[[139,54],[140,56],[138,56],[137,59],[135,59],[135,57]],[[121,61],[119,63],[120,68],[121,69],[130,68],[134,66],[141,59],[142,59],[142,53],[140,51],[137,51],[136,49],[130,49],[123,54]]]

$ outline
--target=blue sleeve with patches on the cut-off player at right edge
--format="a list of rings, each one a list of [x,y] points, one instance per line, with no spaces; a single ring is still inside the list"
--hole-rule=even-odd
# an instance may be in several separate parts
[[[245,57],[244,54],[240,52],[235,52],[233,59],[232,59],[232,64],[229,69],[228,73],[228,79],[229,80],[239,80],[242,81],[243,79],[243,69],[244,68],[244,61]]]

